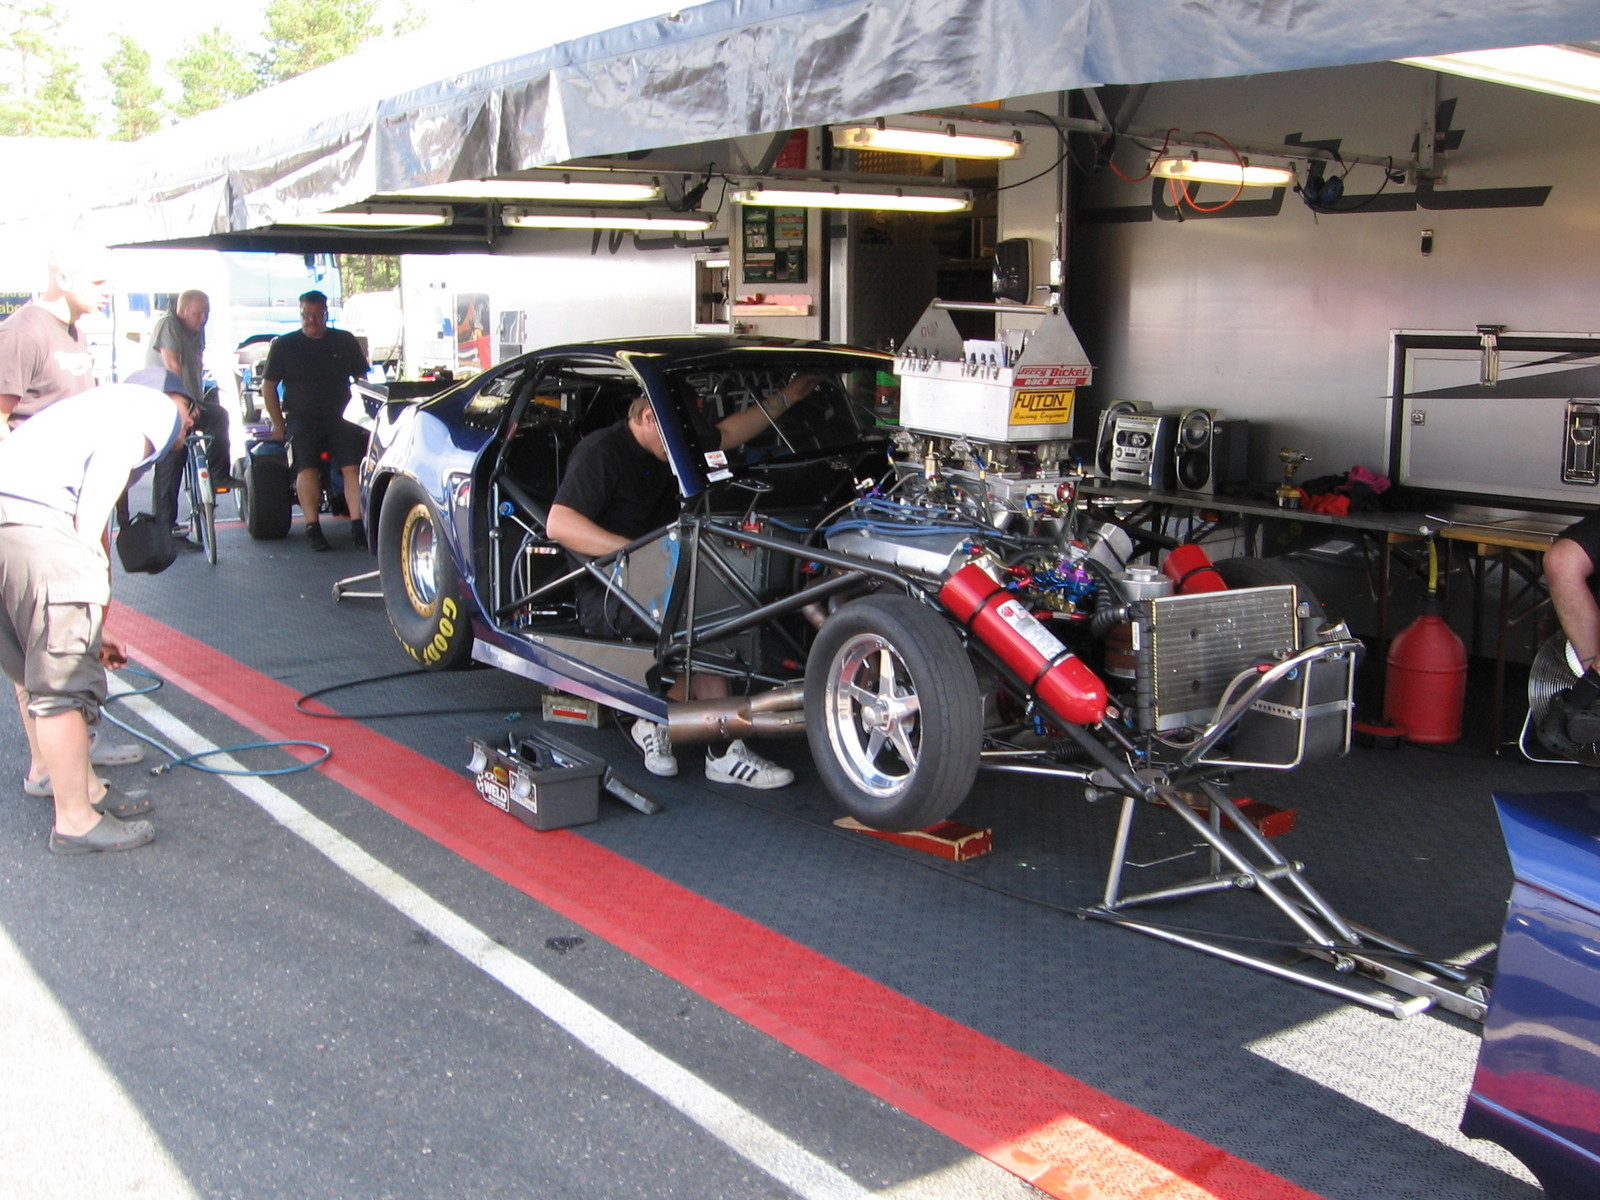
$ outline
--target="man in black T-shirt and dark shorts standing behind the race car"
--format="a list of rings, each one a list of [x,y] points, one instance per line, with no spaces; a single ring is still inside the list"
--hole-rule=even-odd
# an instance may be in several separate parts
[[[350,507],[350,539],[366,549],[362,528],[362,486],[357,469],[366,454],[366,430],[344,419],[350,381],[366,378],[366,354],[354,333],[328,328],[328,298],[320,291],[301,296],[301,326],[272,339],[261,370],[261,403],[277,442],[288,438],[294,456],[294,496],[306,514],[306,541],[328,550],[317,514],[322,509],[322,454],[344,477],[344,502]],[[283,398],[278,400],[278,384]],[[288,426],[285,427],[285,418]]]

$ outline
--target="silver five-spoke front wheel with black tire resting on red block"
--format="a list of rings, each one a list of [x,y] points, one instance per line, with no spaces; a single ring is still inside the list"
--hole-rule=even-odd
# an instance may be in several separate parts
[[[973,787],[982,701],[955,629],[906,595],[840,608],[806,661],[805,725],[816,770],[850,816],[925,829]]]

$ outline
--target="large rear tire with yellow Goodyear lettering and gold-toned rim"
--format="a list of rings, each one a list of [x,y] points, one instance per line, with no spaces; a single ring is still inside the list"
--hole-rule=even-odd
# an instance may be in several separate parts
[[[459,670],[472,659],[472,622],[443,523],[427,494],[397,478],[378,517],[378,576],[389,626],[426,670]]]

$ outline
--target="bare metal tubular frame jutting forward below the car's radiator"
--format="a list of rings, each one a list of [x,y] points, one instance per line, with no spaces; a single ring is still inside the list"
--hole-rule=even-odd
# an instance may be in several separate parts
[[[1211,858],[1210,874],[1134,896],[1123,894],[1123,869],[1131,866],[1128,862],[1128,838],[1133,830],[1133,816],[1141,803],[1147,803],[1123,795],[1117,840],[1106,877],[1106,898],[1098,909],[1099,912],[1112,917],[1117,925],[1138,933],[1251,966],[1280,979],[1376,1008],[1389,1016],[1406,1018],[1438,1005],[1470,1021],[1483,1019],[1488,1010],[1488,987],[1477,973],[1453,963],[1422,958],[1408,946],[1347,922],[1306,882],[1304,864],[1283,858],[1216,784],[1202,782],[1200,787],[1211,802],[1206,816],[1195,813],[1170,787],[1158,787],[1155,798],[1163,802],[1206,843]],[[1406,998],[1347,987],[1298,966],[1234,950],[1222,946],[1221,939],[1211,939],[1205,933],[1147,925],[1123,915],[1125,909],[1138,904],[1184,899],[1214,891],[1251,893],[1266,899],[1299,931],[1302,944],[1298,949],[1302,955],[1330,963],[1338,974],[1366,976]]]

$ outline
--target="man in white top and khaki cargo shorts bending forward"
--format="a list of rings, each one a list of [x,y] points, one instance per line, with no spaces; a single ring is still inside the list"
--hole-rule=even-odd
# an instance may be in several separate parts
[[[163,395],[165,392],[165,395]],[[133,850],[155,837],[142,792],[118,792],[90,757],[106,667],[128,658],[104,629],[110,603],[106,523],[130,478],[181,443],[194,421],[187,384],[165,366],[91,387],[29,418],[0,442],[0,669],[27,699],[30,741],[53,795],[53,854]]]

